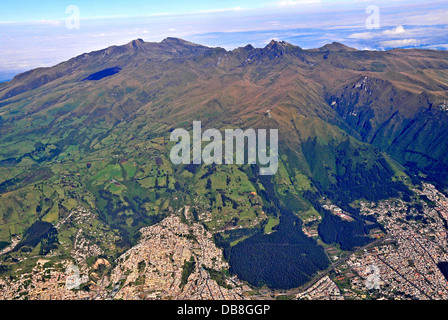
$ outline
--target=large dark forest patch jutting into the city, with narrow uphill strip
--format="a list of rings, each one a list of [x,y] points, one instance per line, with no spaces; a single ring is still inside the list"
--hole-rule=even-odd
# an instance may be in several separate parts
[[[246,172],[254,184],[263,185],[265,207],[270,214],[279,216],[280,222],[274,232],[265,234],[260,230],[232,247],[230,272],[255,286],[288,289],[303,285],[328,266],[323,248],[303,233],[300,218],[282,204],[272,177],[259,176],[256,166]]]

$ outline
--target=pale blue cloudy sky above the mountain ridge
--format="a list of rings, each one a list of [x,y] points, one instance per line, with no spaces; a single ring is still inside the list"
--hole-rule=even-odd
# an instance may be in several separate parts
[[[137,38],[227,50],[284,40],[360,50],[448,50],[448,1],[16,0],[0,2],[0,81]]]

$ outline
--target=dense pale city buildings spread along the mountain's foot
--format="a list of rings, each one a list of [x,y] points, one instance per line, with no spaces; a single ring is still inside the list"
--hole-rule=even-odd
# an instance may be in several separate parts
[[[86,234],[93,214],[83,208],[57,227],[74,223],[79,230],[71,259],[54,262],[38,258],[30,272],[14,281],[0,279],[1,299],[419,299],[448,298],[445,276],[439,268],[448,261],[446,219],[448,198],[433,185],[414,192],[425,199],[415,206],[401,199],[359,202],[362,215],[373,215],[384,226],[381,236],[353,252],[326,248],[331,266],[306,286],[288,291],[253,288],[229,274],[228,262],[212,234],[192,222],[186,206],[161,222],[140,230],[138,244],[116,261],[101,258],[92,243],[98,234]],[[335,215],[348,214],[327,205]],[[317,237],[317,232],[308,234]],[[104,237],[104,236],[103,236]],[[19,240],[19,239],[17,239]],[[102,241],[113,239],[103,238]],[[17,244],[18,241],[15,242]],[[111,242],[112,243],[112,242]],[[13,243],[14,245],[14,243]],[[13,249],[6,248],[2,254]],[[93,258],[93,260],[92,260]],[[88,260],[94,263],[87,263]],[[105,273],[105,270],[110,270]],[[88,287],[88,290],[85,288]],[[83,289],[84,288],[84,289]]]

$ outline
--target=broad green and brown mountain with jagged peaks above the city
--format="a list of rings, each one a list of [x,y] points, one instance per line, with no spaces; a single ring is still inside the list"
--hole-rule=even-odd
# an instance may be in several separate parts
[[[117,237],[92,254],[112,262],[141,228],[190,206],[186,223],[214,235],[228,272],[258,287],[303,285],[329,265],[322,241],[349,251],[381,228],[357,201],[412,201],[422,181],[447,190],[447,91],[445,51],[337,42],[227,51],[137,39],[19,74],[0,83],[0,249],[19,243],[3,273],[31,256],[69,258],[76,208],[97,214],[85,228]],[[278,129],[277,174],[171,164],[170,132],[193,121]],[[354,221],[335,222],[322,199]]]

